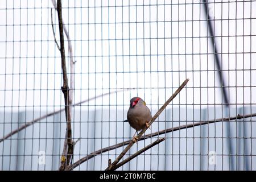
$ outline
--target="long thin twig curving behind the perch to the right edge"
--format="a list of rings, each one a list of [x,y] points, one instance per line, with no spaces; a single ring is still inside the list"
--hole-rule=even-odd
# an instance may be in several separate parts
[[[235,119],[250,118],[250,117],[256,117],[256,113],[246,114],[246,115],[238,114],[237,117],[212,119],[212,120],[209,120],[209,121],[200,121],[200,122],[192,123],[192,124],[189,124],[189,125],[176,126],[176,127],[170,128],[170,129],[157,131],[157,132],[152,133],[152,134],[147,134],[144,137],[139,138],[139,141],[144,140],[144,139],[148,139],[148,138],[152,138],[152,137],[155,137],[155,136],[158,136],[158,135],[162,135],[162,134],[167,134],[167,133],[177,131],[177,130],[188,129],[188,128],[195,127],[195,126],[207,125],[207,124],[210,124],[210,123],[217,123],[217,122],[223,122],[223,121],[225,121],[225,122],[228,121],[229,122],[229,121],[232,121],[232,120],[235,120]],[[77,162],[75,162],[74,164],[72,164],[71,166],[68,167],[68,170],[72,170],[72,169],[76,168],[80,164],[86,162],[87,160],[93,158],[96,155],[100,155],[104,152],[114,150],[114,149],[117,149],[119,147],[126,146],[130,142],[131,142],[131,140],[127,140],[125,142],[114,144],[113,146],[101,148],[100,150],[94,151],[94,152],[90,153],[89,155],[86,155],[84,158],[81,158],[80,160],[77,160]]]

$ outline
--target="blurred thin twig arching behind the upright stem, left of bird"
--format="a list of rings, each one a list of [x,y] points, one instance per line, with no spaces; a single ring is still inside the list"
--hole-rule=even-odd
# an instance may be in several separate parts
[[[112,92],[109,92],[109,93],[104,93],[104,94],[98,95],[96,97],[91,97],[91,98],[89,98],[87,100],[84,100],[84,101],[81,101],[81,102],[77,102],[76,104],[70,105],[70,106],[81,106],[81,104],[84,104],[85,102],[89,102],[91,100],[95,100],[96,98],[103,97],[103,96],[110,95],[110,94],[117,93],[117,92],[121,92],[121,91],[128,91],[128,90],[131,90],[131,89],[121,89],[121,90],[115,90],[115,91],[112,91]],[[0,139],[0,143],[3,142],[3,140],[5,140],[5,139],[11,137],[12,135],[18,133],[19,131],[21,131],[23,129],[26,129],[26,127],[34,125],[35,123],[41,121],[42,119],[45,119],[47,117],[51,117],[52,115],[55,115],[55,114],[58,114],[58,113],[61,113],[64,110],[65,110],[65,108],[60,109],[60,110],[56,110],[56,111],[53,111],[53,112],[48,113],[46,115],[43,115],[40,118],[36,118],[36,119],[34,119],[34,120],[30,121],[30,122],[25,123],[24,125],[18,127],[18,129],[11,131],[9,134],[7,134],[3,138],[1,138]]]

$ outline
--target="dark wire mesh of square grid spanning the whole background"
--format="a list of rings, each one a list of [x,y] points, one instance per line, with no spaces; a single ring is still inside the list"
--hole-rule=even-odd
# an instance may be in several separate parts
[[[63,160],[56,5],[0,2],[1,170],[56,170]],[[124,159],[166,139],[117,170],[256,169],[256,1],[63,0],[62,15],[73,170],[108,167],[135,132],[124,122],[130,99],[154,115],[186,78],[146,131],[162,133]]]

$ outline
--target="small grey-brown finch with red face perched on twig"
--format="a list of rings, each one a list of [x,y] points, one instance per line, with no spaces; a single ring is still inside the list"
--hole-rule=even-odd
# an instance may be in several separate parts
[[[146,102],[142,100],[140,97],[133,97],[130,100],[130,107],[127,112],[127,121],[130,126],[135,129],[135,133],[133,135],[134,143],[137,142],[138,138],[135,137],[137,131],[142,130],[145,126],[148,128],[148,122],[152,118],[151,111],[148,109]]]

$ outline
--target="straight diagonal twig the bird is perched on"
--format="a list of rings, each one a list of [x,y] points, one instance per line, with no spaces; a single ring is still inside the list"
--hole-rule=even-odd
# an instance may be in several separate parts
[[[150,127],[151,124],[155,121],[156,118],[162,113],[162,111],[166,108],[166,106],[177,96],[177,94],[184,88],[185,85],[187,85],[188,78],[180,85],[180,87],[176,90],[174,94],[164,103],[164,105],[156,112],[154,117],[150,119],[150,122],[148,122],[148,126]],[[144,127],[142,131],[137,135],[137,138],[141,138],[141,136],[145,133],[145,131],[148,129],[148,127]],[[115,161],[108,167],[106,168],[106,171],[112,170],[112,168],[117,165],[117,163],[122,159],[122,157],[126,154],[126,152],[133,146],[134,141],[132,140],[129,145],[121,152],[121,154],[115,159]]]

